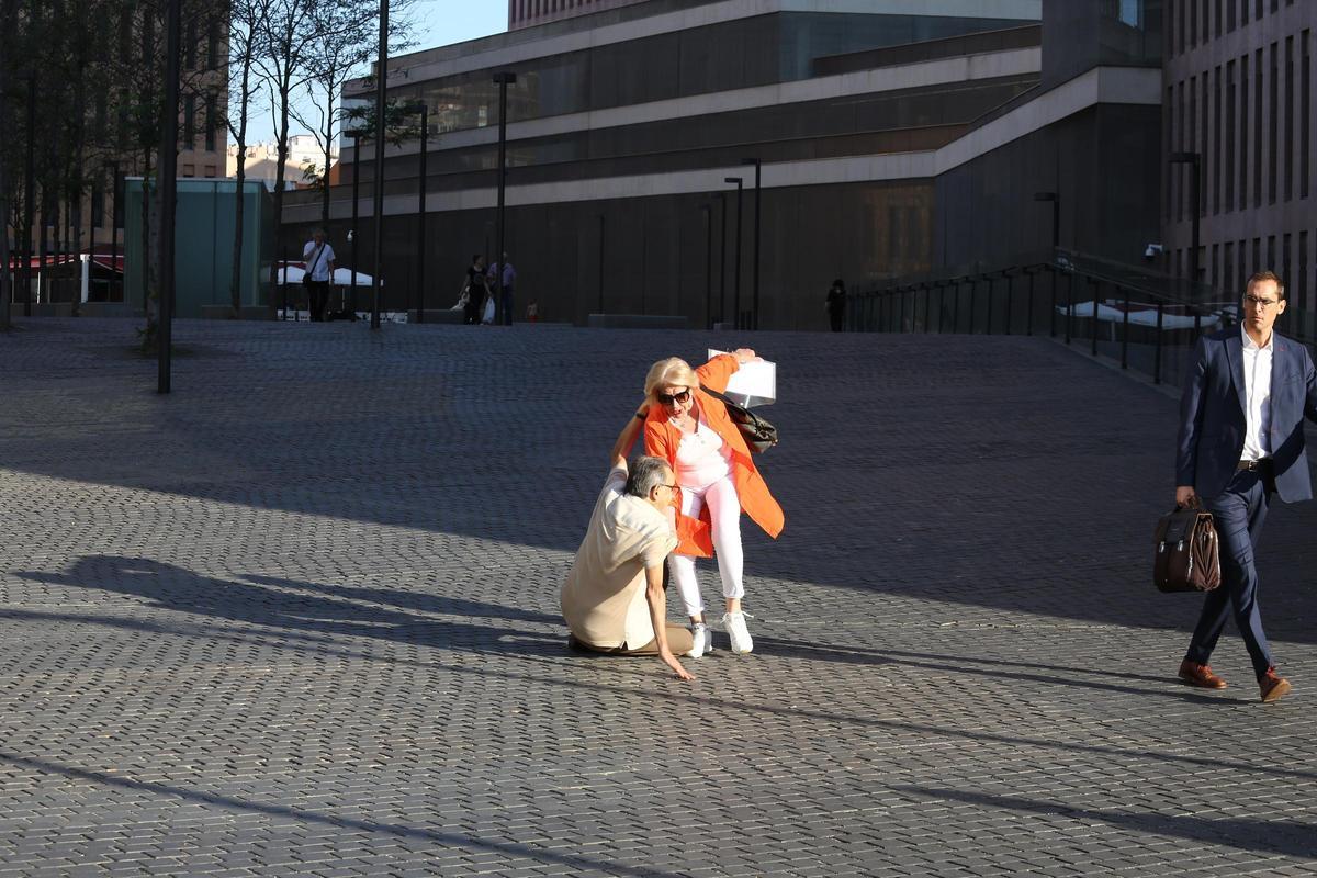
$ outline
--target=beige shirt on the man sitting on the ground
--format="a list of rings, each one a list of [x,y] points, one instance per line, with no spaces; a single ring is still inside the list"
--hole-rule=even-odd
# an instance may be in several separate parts
[[[655,638],[645,567],[661,566],[677,536],[661,512],[623,494],[627,471],[608,473],[562,584],[562,619],[577,640],[601,649],[636,649]]]

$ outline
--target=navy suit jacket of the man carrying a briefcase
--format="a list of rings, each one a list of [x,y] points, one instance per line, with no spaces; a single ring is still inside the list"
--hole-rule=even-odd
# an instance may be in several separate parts
[[[1210,499],[1226,490],[1243,450],[1246,390],[1243,329],[1198,338],[1180,395],[1175,483]],[[1308,349],[1272,333],[1271,457],[1276,494],[1285,503],[1313,495],[1304,450],[1304,417],[1317,421],[1317,371]]]

